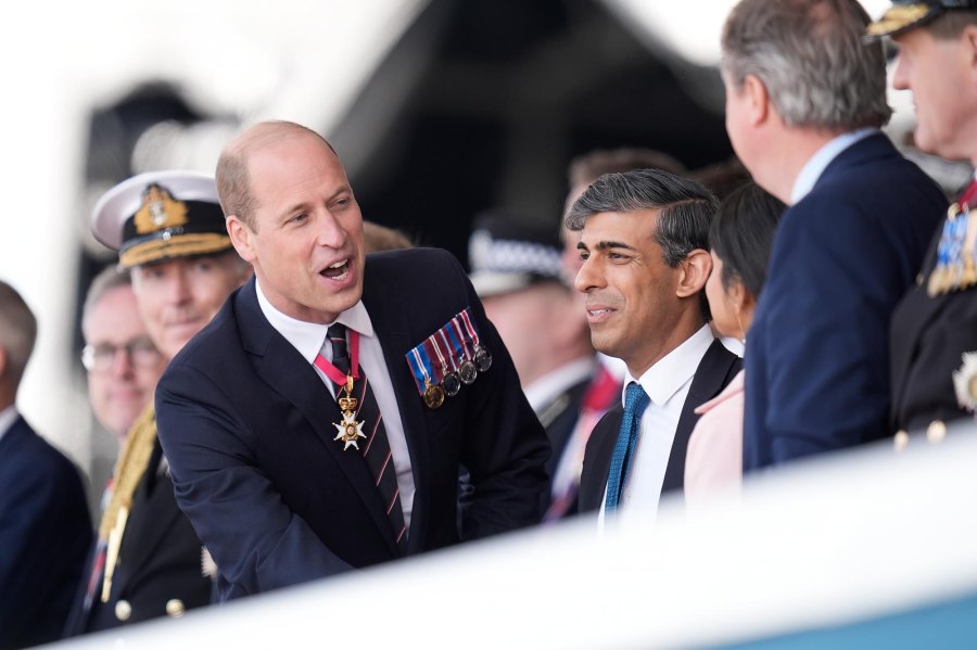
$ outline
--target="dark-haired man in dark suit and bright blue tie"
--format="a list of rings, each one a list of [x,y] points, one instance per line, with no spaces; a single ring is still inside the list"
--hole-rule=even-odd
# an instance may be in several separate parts
[[[739,372],[712,335],[705,286],[709,225],[718,202],[699,183],[661,169],[598,178],[573,203],[591,341],[627,366],[624,395],[594,428],[584,454],[580,510],[598,522],[654,515],[684,484],[698,416]]]

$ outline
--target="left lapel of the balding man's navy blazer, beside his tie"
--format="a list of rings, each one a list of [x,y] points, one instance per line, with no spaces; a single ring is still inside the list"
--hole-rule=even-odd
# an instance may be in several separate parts
[[[327,456],[356,488],[391,552],[398,553],[383,499],[366,461],[358,458],[355,450],[343,450],[343,446],[334,441],[335,428],[332,424],[342,419],[339,406],[313,367],[268,323],[257,304],[254,279],[241,289],[237,307],[241,339],[245,349],[254,356],[255,371],[308,421],[322,442]]]

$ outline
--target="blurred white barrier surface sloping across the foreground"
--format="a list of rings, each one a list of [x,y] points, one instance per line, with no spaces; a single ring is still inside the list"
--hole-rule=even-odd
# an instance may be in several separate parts
[[[977,592],[977,432],[798,463],[656,524],[536,528],[77,639],[72,648],[655,648]],[[977,623],[975,623],[977,625]]]

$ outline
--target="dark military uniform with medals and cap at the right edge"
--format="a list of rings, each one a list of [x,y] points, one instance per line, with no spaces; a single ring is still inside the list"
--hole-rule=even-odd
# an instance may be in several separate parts
[[[899,38],[917,28],[926,29],[954,12],[969,12],[967,20],[975,23],[975,11],[977,0],[893,0],[889,10],[868,25],[865,38]],[[940,39],[953,42],[951,38]],[[899,71],[897,65],[897,76]],[[904,75],[900,84],[916,92],[911,87],[911,74]],[[948,71],[947,75],[947,82],[968,78],[956,76],[955,71]],[[928,104],[929,119],[939,119],[949,104],[939,101]],[[953,110],[959,112],[960,106]],[[897,448],[904,446],[913,432],[925,431],[931,442],[938,441],[948,421],[973,418],[977,409],[975,206],[977,180],[950,206],[929,245],[916,285],[892,314],[889,372]]]

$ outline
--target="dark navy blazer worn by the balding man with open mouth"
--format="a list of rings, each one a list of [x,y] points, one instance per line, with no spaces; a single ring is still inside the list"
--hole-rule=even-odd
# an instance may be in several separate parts
[[[537,522],[549,444],[457,260],[423,248],[370,255],[363,302],[414,471],[408,553]],[[405,354],[466,307],[494,361],[431,410]],[[254,280],[170,362],[156,391],[156,419],[177,501],[217,563],[221,598],[397,557],[369,469],[333,439],[335,402],[268,323]],[[461,464],[474,494],[459,531]]]

